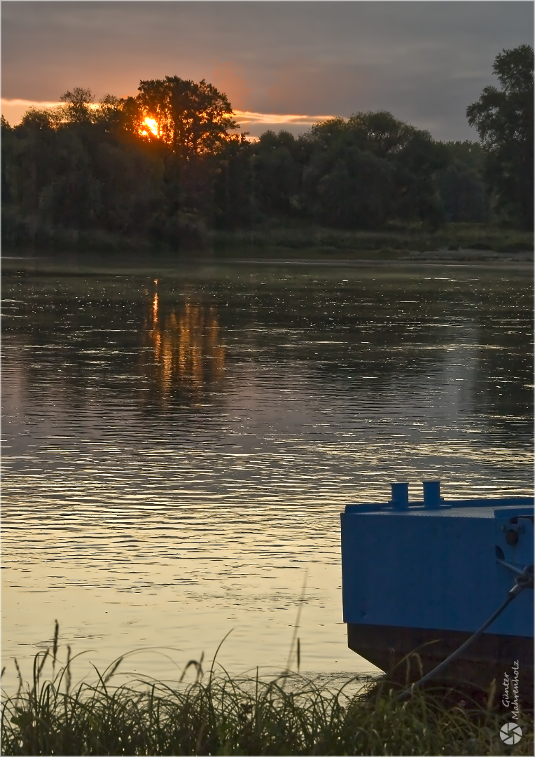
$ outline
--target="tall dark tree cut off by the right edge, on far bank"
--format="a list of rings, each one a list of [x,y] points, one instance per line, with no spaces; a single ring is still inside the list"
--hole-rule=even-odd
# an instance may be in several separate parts
[[[497,207],[533,227],[533,48],[503,50],[493,64],[500,89],[485,87],[466,109],[487,160],[487,184]]]

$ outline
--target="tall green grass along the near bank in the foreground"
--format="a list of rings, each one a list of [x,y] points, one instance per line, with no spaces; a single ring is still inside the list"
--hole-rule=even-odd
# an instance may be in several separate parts
[[[114,685],[123,658],[96,683],[71,688],[71,661],[39,652],[33,681],[2,702],[3,755],[532,755],[533,718],[521,715],[515,746],[499,738],[504,718],[493,693],[446,707],[438,692],[397,692],[365,684],[355,694],[316,686],[297,674],[263,681],[203,674],[188,662],[173,686]],[[201,661],[202,662],[202,661]],[[17,665],[17,663],[15,663]],[[183,681],[188,668],[195,680]],[[18,671],[18,665],[17,665]],[[51,675],[47,678],[46,671]]]

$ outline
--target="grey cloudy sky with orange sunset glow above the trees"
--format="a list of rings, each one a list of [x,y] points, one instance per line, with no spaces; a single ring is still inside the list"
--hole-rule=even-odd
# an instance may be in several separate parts
[[[503,48],[533,45],[530,2],[2,2],[2,114],[75,86],[206,78],[242,128],[305,132],[387,110],[435,139],[477,139],[465,110]]]

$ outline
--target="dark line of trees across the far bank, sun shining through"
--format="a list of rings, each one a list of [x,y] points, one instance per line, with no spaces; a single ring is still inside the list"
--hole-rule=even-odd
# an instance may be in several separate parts
[[[2,117],[2,235],[58,230],[195,245],[203,229],[302,220],[340,229],[501,220],[533,223],[533,50],[496,57],[500,89],[468,106],[480,142],[438,142],[386,111],[303,135],[239,130],[204,79],[142,81],[136,97],[66,92],[55,108]]]

